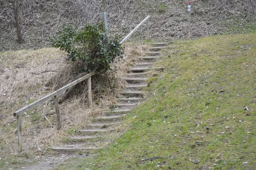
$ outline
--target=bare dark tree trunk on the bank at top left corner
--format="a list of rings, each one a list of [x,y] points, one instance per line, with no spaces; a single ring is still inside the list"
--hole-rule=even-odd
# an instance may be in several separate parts
[[[6,3],[9,3],[9,4],[6,6],[1,6],[3,8],[6,7],[6,8],[11,8],[13,10],[18,43],[24,42],[21,34],[21,29],[20,29],[20,17],[19,17],[19,10],[20,10],[20,6],[22,5],[22,2],[23,0],[6,0]]]

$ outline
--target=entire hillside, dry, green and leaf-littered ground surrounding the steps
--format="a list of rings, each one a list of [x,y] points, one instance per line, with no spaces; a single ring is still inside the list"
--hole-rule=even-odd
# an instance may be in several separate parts
[[[108,6],[119,2],[107,1]],[[94,157],[73,158],[55,169],[253,169],[255,0],[194,0],[191,39],[184,0],[120,2],[108,10],[109,32],[124,37],[150,15],[151,41],[144,41],[144,24],[134,34],[137,47],[125,44],[124,60],[111,65],[114,72],[93,76],[93,107],[88,107],[85,81],[62,98],[60,131],[53,100],[26,112],[23,152],[17,153],[13,112],[86,74],[65,60],[65,52],[50,47],[49,36],[69,23],[81,29],[102,21],[102,1],[23,0],[23,44],[16,40],[12,10],[4,7],[9,0],[0,1],[0,169],[40,167],[40,161],[50,165],[49,160],[74,156],[51,147],[77,144],[72,138],[80,135],[78,130],[97,115],[120,109],[115,104],[127,87],[124,74],[138,57],[145,57],[150,43],[160,41],[170,43],[154,66],[165,69],[145,75],[151,76],[145,82],[148,87],[139,88],[148,99],[138,101],[139,106],[120,119],[124,122],[113,126],[110,137],[84,142],[106,149],[80,150],[78,157],[84,157],[83,152]]]

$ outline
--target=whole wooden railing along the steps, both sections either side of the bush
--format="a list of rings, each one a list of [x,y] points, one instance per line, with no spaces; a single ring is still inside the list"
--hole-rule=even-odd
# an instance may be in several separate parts
[[[147,22],[147,35],[148,39],[150,39],[149,36],[149,23],[148,19],[150,16],[147,16],[139,25],[137,25],[120,43],[125,43],[131,36],[134,35],[134,32],[137,31],[137,29],[142,26],[145,22]],[[134,43],[134,37],[133,37],[133,43]],[[66,91],[67,89],[75,86],[76,84],[79,84],[81,81],[84,81],[88,79],[88,103],[91,106],[93,101],[92,101],[92,93],[91,93],[91,76],[95,75],[95,72],[91,72],[87,75],[84,75],[83,77],[77,79],[76,81],[73,81],[70,84],[67,84],[66,86],[56,90],[55,92],[52,92],[51,94],[44,96],[43,98],[39,99],[38,101],[33,102],[32,104],[29,104],[26,107],[23,107],[22,109],[17,110],[16,112],[13,113],[13,116],[16,117],[17,119],[17,132],[18,132],[18,151],[22,151],[22,122],[21,122],[21,115],[28,111],[29,109],[32,109],[33,107],[36,107],[38,104],[43,103],[44,101],[47,101],[51,98],[54,98],[54,106],[55,106],[55,111],[57,113],[57,121],[58,121],[58,127],[57,129],[61,129],[61,116],[58,108],[58,95],[61,94],[61,92]]]

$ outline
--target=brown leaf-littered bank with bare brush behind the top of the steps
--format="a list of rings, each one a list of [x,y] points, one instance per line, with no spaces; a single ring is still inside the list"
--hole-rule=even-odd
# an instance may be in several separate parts
[[[107,0],[108,6],[119,0]],[[103,20],[99,0],[24,0],[20,6],[24,44],[16,42],[15,20],[8,1],[0,2],[0,51],[38,49],[49,46],[49,35],[63,24],[81,28]],[[191,14],[192,38],[247,33],[256,30],[254,0],[194,0]],[[147,15],[151,15],[151,38],[155,41],[186,39],[188,13],[184,0],[122,0],[108,10],[111,32],[127,35]],[[144,32],[145,26],[139,32]],[[146,34],[136,34],[137,41]]]

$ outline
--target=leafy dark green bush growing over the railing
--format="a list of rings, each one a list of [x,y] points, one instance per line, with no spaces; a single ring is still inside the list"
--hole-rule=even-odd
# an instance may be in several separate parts
[[[68,61],[78,62],[87,72],[106,72],[124,53],[120,36],[105,34],[103,23],[86,24],[80,31],[71,25],[63,26],[50,40],[52,46],[67,52]]]

